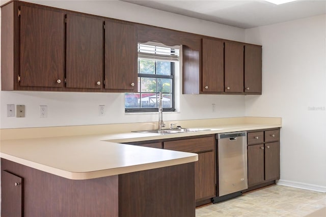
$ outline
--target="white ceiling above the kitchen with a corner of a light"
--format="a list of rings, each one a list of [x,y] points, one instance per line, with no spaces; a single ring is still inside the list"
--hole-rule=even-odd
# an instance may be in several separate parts
[[[326,0],[275,5],[265,1],[151,0],[124,1],[242,29],[325,14]]]

